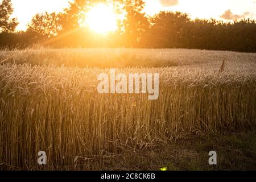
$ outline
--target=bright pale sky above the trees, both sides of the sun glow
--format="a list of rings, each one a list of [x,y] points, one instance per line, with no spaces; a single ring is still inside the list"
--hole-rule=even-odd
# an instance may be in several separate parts
[[[27,23],[36,13],[61,11],[68,7],[68,0],[12,0],[18,30],[26,30]],[[256,0],[144,0],[147,14],[160,10],[189,13],[191,18],[256,19]]]

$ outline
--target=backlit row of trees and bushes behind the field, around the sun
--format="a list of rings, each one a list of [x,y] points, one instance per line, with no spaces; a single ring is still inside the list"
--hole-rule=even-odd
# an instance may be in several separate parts
[[[81,26],[86,12],[99,2],[112,3],[118,30],[97,35]],[[242,19],[233,23],[215,19],[192,20],[188,14],[162,11],[153,17],[143,13],[142,0],[75,0],[62,13],[36,14],[27,31],[15,31],[18,22],[10,18],[11,0],[0,3],[0,47],[29,47],[42,44],[63,47],[195,48],[256,52],[256,24]]]

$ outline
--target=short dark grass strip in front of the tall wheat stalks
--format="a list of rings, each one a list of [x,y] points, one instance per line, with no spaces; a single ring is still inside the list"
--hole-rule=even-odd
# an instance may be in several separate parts
[[[208,163],[217,152],[217,165]],[[187,135],[150,151],[126,150],[119,155],[77,160],[85,170],[256,170],[256,128],[238,133]]]

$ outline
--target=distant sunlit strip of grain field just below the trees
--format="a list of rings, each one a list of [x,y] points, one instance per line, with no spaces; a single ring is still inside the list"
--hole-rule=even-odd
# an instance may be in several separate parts
[[[135,48],[76,48],[51,49],[33,47],[23,50],[0,50],[0,63],[31,65],[64,65],[80,68],[176,67],[210,65],[220,67],[227,63],[247,65],[254,63],[256,53],[204,51],[197,49],[135,49]]]

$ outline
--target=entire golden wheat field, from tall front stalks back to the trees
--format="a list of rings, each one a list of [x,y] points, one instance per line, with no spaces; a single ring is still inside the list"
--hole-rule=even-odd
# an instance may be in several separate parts
[[[2,50],[0,63],[2,169],[84,169],[93,156],[256,122],[256,53],[39,47]],[[158,100],[99,94],[97,75],[110,68],[159,73]]]

